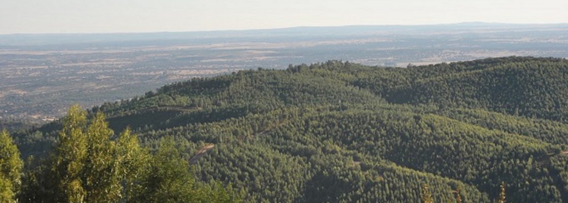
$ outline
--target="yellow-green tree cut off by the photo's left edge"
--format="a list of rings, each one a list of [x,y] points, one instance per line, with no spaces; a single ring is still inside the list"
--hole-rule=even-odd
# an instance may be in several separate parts
[[[22,179],[20,152],[6,130],[0,132],[0,202],[16,202]]]

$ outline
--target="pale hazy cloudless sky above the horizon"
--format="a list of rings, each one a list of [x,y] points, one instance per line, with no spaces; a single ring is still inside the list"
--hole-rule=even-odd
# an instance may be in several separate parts
[[[0,0],[0,34],[567,23],[567,0]]]

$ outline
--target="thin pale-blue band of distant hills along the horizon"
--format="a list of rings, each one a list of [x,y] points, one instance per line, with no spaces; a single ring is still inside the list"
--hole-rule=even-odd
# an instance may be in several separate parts
[[[336,26],[336,27],[290,27],[265,30],[227,30],[194,32],[147,32],[147,33],[101,33],[101,34],[9,34],[0,35],[2,46],[28,46],[50,44],[87,44],[108,42],[178,41],[227,38],[299,38],[343,35],[381,34],[432,34],[436,32],[460,31],[527,31],[527,30],[568,30],[568,23],[562,24],[509,24],[464,22],[454,24],[428,25],[377,25],[377,26]]]

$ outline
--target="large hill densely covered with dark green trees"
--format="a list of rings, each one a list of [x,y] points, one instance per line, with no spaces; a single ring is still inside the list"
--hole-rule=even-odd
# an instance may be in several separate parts
[[[568,202],[568,60],[408,68],[342,61],[240,71],[105,103],[112,129],[172,136],[203,181],[250,202]],[[56,123],[16,136],[24,155]]]

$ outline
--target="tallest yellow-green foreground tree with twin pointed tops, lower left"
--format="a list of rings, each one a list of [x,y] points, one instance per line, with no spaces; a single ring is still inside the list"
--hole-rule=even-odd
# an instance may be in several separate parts
[[[51,195],[52,201],[57,202],[117,201],[123,190],[122,175],[116,143],[111,140],[114,133],[105,116],[95,114],[87,125],[86,111],[75,105],[70,107],[62,125],[60,142],[48,161],[50,170],[39,175],[53,175],[51,180],[39,183],[48,191],[41,198]]]

